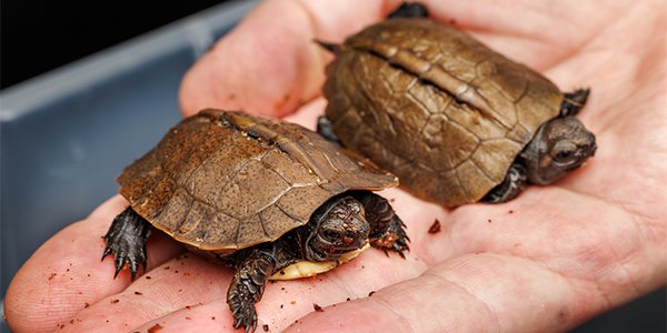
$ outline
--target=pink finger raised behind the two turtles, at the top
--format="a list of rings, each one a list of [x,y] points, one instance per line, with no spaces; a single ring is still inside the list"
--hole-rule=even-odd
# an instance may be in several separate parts
[[[265,1],[187,73],[186,115],[205,108],[285,115],[318,94],[328,57],[312,40],[341,41],[379,20],[384,1]],[[350,10],[354,8],[354,10]]]

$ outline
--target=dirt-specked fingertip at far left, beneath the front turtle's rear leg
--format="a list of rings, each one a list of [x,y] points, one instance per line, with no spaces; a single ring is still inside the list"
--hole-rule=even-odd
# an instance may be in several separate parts
[[[7,322],[14,332],[52,332],[77,312],[130,284],[129,272],[113,280],[113,261],[100,261],[102,235],[127,203],[115,196],[89,218],[42,244],[12,280],[4,299]],[[156,232],[147,245],[149,270],[182,251]]]

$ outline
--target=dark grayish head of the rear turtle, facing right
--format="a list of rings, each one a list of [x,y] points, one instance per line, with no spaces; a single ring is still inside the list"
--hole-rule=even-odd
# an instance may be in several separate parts
[[[521,152],[528,179],[552,183],[593,157],[595,135],[574,117],[556,118],[541,125]]]

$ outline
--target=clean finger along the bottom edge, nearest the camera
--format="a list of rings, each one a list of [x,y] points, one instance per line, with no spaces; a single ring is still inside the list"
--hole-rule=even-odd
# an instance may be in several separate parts
[[[286,332],[567,331],[605,307],[587,287],[524,259],[469,254]]]

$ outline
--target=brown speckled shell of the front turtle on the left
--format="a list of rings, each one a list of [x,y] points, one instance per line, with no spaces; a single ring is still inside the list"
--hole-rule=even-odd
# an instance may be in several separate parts
[[[221,110],[182,120],[118,182],[152,225],[221,254],[275,241],[338,193],[398,184],[300,125]]]

